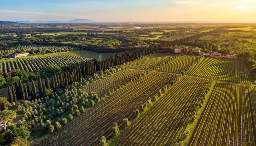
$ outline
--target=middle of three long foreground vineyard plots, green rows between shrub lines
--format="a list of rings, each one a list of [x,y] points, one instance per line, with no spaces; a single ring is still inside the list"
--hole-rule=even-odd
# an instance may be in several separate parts
[[[184,76],[119,139],[119,145],[174,145],[210,80]]]

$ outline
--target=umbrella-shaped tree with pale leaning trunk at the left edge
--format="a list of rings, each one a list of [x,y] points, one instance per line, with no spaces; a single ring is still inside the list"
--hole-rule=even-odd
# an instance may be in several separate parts
[[[1,124],[4,130],[6,131],[6,123],[8,123],[11,119],[16,118],[16,112],[10,111],[10,110],[0,111],[0,118],[1,118]],[[4,122],[4,124],[2,122]]]

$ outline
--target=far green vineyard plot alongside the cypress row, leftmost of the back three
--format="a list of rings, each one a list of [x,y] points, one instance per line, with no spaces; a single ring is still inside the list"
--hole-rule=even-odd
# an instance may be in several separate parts
[[[132,69],[157,69],[157,66],[162,64],[163,62],[170,60],[172,58],[178,57],[179,54],[170,54],[170,53],[157,53],[149,56],[145,59],[141,59],[135,63],[128,65],[128,68]]]

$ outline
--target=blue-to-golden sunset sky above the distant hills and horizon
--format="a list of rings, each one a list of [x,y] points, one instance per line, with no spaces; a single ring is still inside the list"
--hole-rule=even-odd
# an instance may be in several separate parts
[[[0,0],[0,21],[256,23],[256,0]]]

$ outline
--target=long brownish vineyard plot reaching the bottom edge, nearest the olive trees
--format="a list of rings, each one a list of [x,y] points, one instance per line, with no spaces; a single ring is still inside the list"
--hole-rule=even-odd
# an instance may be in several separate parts
[[[115,123],[120,124],[124,118],[129,118],[133,110],[152,98],[174,77],[176,75],[152,72],[89,108],[38,145],[98,144],[101,136],[111,133],[110,128]]]

